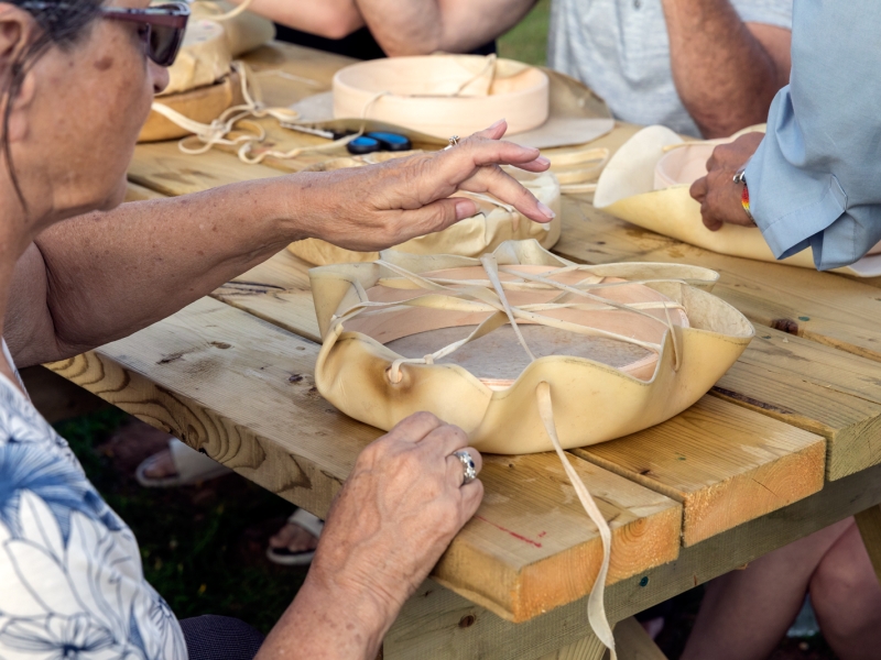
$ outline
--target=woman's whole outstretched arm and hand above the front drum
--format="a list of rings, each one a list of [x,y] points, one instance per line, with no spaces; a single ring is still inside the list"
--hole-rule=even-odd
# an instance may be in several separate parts
[[[61,360],[163,319],[287,243],[373,252],[472,216],[457,190],[490,194],[547,222],[553,212],[497,164],[547,169],[500,142],[503,121],[455,150],[300,173],[140,201],[62,222],[15,265],[3,333],[20,366]]]

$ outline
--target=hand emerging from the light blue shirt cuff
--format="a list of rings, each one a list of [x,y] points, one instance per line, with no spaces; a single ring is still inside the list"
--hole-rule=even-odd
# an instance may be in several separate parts
[[[725,222],[755,227],[740,204],[743,185],[732,179],[755,153],[762,138],[764,133],[747,133],[733,142],[720,144],[707,161],[707,176],[692,184],[692,197],[700,202],[700,216],[710,231],[721,229]]]

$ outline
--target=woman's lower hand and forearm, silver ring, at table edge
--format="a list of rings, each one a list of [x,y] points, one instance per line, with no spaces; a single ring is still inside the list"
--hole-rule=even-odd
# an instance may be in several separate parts
[[[464,484],[465,432],[431,413],[407,417],[368,446],[342,486],[296,600],[259,660],[373,660],[398,612],[477,510]]]

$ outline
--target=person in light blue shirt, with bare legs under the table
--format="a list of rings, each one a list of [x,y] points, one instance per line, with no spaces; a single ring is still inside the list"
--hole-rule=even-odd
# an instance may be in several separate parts
[[[777,258],[811,248],[818,270],[881,240],[880,24],[877,0],[795,2],[792,77],[768,133],[718,146],[692,187],[709,229],[758,226]],[[840,660],[881,654],[881,586],[849,518],[710,583],[682,660],[766,658],[806,592]]]

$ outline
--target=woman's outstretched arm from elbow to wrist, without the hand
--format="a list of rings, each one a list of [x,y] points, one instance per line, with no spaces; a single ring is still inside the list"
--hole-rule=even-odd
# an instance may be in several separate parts
[[[20,260],[7,338],[24,366],[126,337],[303,238],[296,184],[233,184],[56,224]]]

